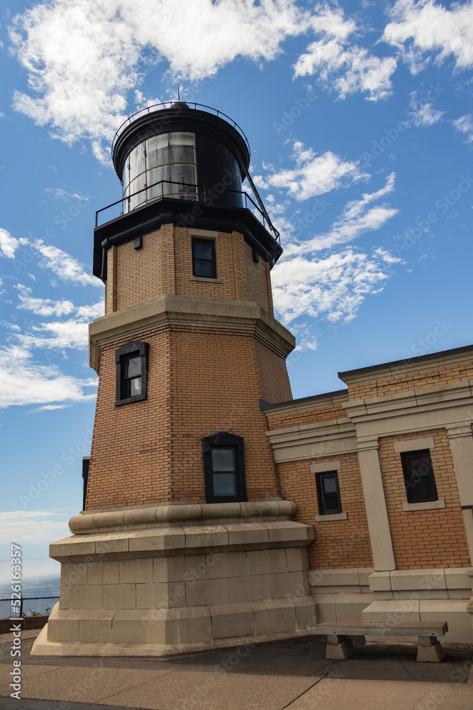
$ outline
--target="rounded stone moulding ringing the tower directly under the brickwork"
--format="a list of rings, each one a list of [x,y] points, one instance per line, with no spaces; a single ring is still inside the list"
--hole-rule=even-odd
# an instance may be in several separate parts
[[[74,534],[111,532],[126,528],[155,528],[181,523],[262,522],[262,520],[289,520],[297,513],[293,501],[261,501],[251,503],[196,503],[184,506],[149,506],[111,510],[102,513],[83,513],[69,520],[69,530]]]

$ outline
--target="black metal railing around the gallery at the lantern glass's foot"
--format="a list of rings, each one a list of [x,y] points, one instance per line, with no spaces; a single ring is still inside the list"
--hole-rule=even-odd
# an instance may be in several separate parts
[[[153,188],[157,187],[157,185],[161,185],[161,195],[152,195],[152,197],[148,197],[148,190],[152,190]],[[165,192],[164,185],[169,185],[169,192]],[[172,185],[177,185],[179,187],[179,190],[172,192]],[[183,187],[191,187],[194,189],[182,190]],[[107,204],[106,207],[101,207],[101,209],[98,209],[95,213],[95,226],[99,226],[99,214],[105,212],[106,209],[116,207],[118,204],[121,204],[121,211],[118,215],[116,215],[117,217],[121,217],[123,214],[131,212],[137,207],[142,207],[144,204],[148,204],[149,202],[154,202],[155,200],[163,200],[165,197],[174,198],[177,200],[189,200],[192,202],[195,201],[197,203],[200,202],[203,204],[213,204],[213,202],[219,196],[215,195],[215,189],[215,185],[213,187],[210,187],[208,185],[198,185],[195,182],[175,182],[174,180],[159,180],[158,182],[153,182],[152,185],[146,185],[145,187],[142,187],[141,190],[132,192],[130,195],[123,195],[121,200],[116,200],[116,202],[112,202],[111,204]],[[138,204],[135,204],[133,205],[133,207],[131,207],[132,198],[136,195],[140,195],[142,192],[145,192],[145,199],[142,202],[139,202]],[[245,192],[245,190],[229,190],[228,188],[226,188],[225,192],[235,192],[235,194],[237,195],[242,195],[243,200],[245,202],[245,207],[247,209],[253,209],[253,214],[255,214],[255,217],[260,220],[265,229],[269,229],[269,231],[272,231],[272,233],[274,234],[273,239],[277,241],[278,244],[281,244],[279,231],[274,229],[274,226],[272,225],[272,222],[270,222],[267,218],[267,215],[262,212],[260,207],[256,204],[255,200],[253,200],[252,197],[248,195],[247,192]],[[248,202],[250,202],[251,207],[248,207]],[[113,219],[113,217],[109,217],[105,220],[105,222],[109,222],[110,219]],[[104,224],[104,222],[100,222],[100,224]]]

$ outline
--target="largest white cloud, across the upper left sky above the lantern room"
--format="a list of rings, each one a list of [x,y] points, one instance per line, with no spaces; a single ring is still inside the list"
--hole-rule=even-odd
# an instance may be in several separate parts
[[[62,141],[89,138],[106,162],[102,141],[126,118],[143,67],[166,60],[174,77],[196,81],[238,56],[271,60],[288,35],[305,31],[307,17],[294,0],[35,4],[11,27],[30,90],[15,92],[13,107]]]

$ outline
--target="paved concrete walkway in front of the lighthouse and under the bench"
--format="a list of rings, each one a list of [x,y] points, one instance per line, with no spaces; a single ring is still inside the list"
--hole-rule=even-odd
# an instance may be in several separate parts
[[[430,664],[414,649],[357,645],[328,661],[311,637],[160,661],[30,658],[32,644],[23,637],[18,701],[11,640],[0,641],[1,710],[473,710],[467,650]]]

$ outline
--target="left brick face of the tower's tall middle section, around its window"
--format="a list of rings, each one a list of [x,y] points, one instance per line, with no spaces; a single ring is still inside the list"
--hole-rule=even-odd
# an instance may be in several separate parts
[[[150,344],[148,399],[115,406],[115,350],[101,352],[87,510],[172,499],[170,334],[143,334]]]

